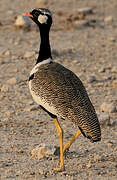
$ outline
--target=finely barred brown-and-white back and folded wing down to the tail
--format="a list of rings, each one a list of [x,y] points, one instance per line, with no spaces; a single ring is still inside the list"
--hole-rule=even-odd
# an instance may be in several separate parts
[[[49,112],[74,122],[92,142],[101,139],[95,109],[81,80],[59,63],[43,64],[31,80],[31,91]]]

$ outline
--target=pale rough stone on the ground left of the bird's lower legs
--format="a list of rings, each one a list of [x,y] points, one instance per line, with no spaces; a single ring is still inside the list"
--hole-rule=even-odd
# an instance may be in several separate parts
[[[55,147],[48,146],[45,144],[38,145],[35,149],[32,150],[32,158],[36,158],[38,160],[43,159],[44,157],[49,157],[50,155],[54,155],[56,151]]]

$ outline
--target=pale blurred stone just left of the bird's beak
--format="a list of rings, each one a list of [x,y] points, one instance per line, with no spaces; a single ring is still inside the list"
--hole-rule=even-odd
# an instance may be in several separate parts
[[[15,27],[30,27],[31,20],[25,16],[19,15],[14,23]]]

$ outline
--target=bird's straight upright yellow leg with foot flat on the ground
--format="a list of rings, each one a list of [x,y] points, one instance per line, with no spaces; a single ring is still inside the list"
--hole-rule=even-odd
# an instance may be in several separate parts
[[[59,141],[60,141],[60,167],[55,168],[55,171],[62,171],[64,169],[64,159],[63,159],[63,130],[58,122],[58,119],[54,119],[54,123],[56,125],[58,135],[59,135]]]

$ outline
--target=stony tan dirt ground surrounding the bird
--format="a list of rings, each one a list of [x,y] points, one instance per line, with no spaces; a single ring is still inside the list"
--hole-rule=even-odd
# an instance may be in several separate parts
[[[58,155],[31,157],[40,143],[59,146],[53,120],[37,107],[28,89],[39,32],[33,22],[30,29],[14,27],[18,15],[42,6],[53,11],[53,58],[80,77],[98,114],[103,102],[117,107],[116,0],[52,0],[46,5],[39,0],[0,0],[0,179],[116,180],[117,112],[106,112],[110,125],[101,125],[101,142],[78,138],[66,154],[64,172],[53,170],[59,166]],[[92,12],[79,15],[84,7]],[[26,58],[29,51],[33,55]],[[60,123],[65,144],[78,128]]]

